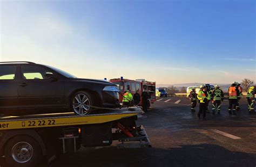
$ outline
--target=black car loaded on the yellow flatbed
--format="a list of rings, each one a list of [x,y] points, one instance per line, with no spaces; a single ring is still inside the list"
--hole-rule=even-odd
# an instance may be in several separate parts
[[[116,85],[32,62],[0,62],[0,113],[24,115],[119,107]]]

